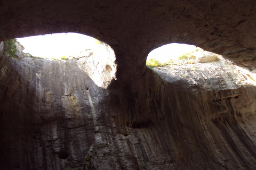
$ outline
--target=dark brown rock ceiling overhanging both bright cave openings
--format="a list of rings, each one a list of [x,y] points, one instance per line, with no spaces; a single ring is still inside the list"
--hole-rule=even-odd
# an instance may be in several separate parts
[[[254,7],[252,1],[3,2],[0,40],[83,33],[110,45],[121,67],[139,68],[154,48],[186,43],[254,66]]]

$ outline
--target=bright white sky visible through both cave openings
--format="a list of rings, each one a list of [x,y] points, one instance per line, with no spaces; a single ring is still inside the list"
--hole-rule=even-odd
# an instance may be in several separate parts
[[[25,47],[24,53],[48,58],[75,55],[98,45],[94,38],[79,33],[53,33],[51,35],[17,38],[17,40]],[[177,58],[195,48],[196,46],[187,44],[167,44],[152,50],[147,60],[155,58],[164,63],[170,58]]]

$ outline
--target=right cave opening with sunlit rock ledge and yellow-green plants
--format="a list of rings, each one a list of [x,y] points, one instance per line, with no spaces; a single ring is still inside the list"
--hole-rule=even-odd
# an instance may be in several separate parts
[[[232,84],[223,84],[222,88],[256,84],[255,72],[194,45],[172,43],[156,48],[148,54],[146,65],[166,81],[187,82],[185,87],[219,89],[220,74]]]

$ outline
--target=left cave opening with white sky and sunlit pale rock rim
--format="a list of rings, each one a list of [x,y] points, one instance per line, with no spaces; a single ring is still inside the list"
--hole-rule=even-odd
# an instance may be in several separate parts
[[[1,43],[1,53],[10,64],[17,63],[23,71],[34,69],[35,74],[22,75],[25,79],[49,78],[42,67],[57,69],[51,74],[86,74],[98,87],[107,88],[116,79],[116,56],[107,44],[79,33],[53,33],[6,40]],[[42,64],[43,63],[43,64]],[[26,66],[24,66],[26,65]],[[67,68],[68,66],[68,68]],[[74,72],[74,69],[78,70]]]

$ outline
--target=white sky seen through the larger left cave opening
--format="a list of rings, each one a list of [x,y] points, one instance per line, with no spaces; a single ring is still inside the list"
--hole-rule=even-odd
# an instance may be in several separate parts
[[[24,46],[24,53],[43,58],[68,57],[98,45],[92,37],[71,32],[17,38],[17,41]]]

